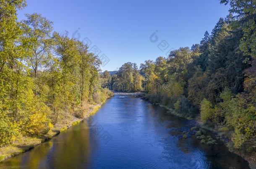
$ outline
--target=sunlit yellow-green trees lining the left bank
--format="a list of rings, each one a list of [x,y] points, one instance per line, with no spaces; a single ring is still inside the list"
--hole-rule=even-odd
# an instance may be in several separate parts
[[[25,0],[0,0],[0,146],[40,136],[84,103],[112,95],[99,83],[101,61],[88,46],[53,32],[42,15],[17,21]]]

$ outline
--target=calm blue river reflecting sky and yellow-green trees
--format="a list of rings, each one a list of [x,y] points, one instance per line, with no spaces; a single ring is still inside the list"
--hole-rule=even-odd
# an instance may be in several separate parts
[[[23,169],[246,169],[240,156],[218,145],[183,139],[193,121],[131,95],[116,94],[91,118],[52,140],[0,163]]]

